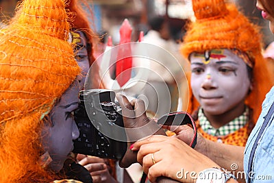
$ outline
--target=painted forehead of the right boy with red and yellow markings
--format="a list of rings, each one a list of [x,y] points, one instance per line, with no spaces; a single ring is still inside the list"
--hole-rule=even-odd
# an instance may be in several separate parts
[[[203,64],[209,64],[212,60],[214,61],[235,61],[238,60],[244,62],[242,58],[239,58],[235,53],[229,49],[212,49],[205,51],[204,53],[193,52],[190,54],[190,62],[195,59],[201,60]]]

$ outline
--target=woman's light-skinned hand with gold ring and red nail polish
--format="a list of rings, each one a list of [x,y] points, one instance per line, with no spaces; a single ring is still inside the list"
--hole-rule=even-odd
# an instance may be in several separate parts
[[[193,178],[197,178],[203,169],[219,167],[175,137],[150,136],[134,143],[132,151],[138,151],[137,160],[151,182],[161,176],[179,182],[194,182]],[[192,171],[196,174],[190,176]]]

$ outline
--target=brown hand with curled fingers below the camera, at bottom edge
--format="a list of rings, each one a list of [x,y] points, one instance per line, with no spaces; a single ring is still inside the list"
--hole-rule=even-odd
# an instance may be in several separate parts
[[[95,156],[86,156],[82,154],[77,155],[79,164],[82,164],[92,176],[93,183],[117,183],[110,175],[107,164],[103,158]]]

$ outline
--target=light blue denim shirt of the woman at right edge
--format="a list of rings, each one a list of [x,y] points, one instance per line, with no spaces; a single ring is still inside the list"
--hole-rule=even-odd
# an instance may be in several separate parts
[[[274,182],[274,114],[271,116],[269,125],[266,126],[262,137],[258,141],[258,147],[255,151],[253,159],[253,171],[247,173],[249,156],[254,142],[258,136],[262,123],[264,123],[264,117],[274,101],[274,86],[270,92],[266,95],[266,99],[262,103],[262,113],[253,128],[245,147],[244,169],[246,178],[251,176],[251,182]],[[271,123],[272,122],[272,123]],[[253,174],[254,173],[254,174]]]

